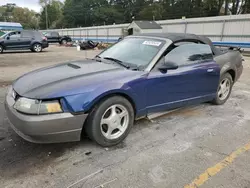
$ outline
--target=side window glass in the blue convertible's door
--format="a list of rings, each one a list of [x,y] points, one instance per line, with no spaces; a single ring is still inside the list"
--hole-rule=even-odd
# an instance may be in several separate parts
[[[165,57],[165,62],[175,62],[179,66],[212,60],[213,55],[209,45],[184,44],[175,47]]]

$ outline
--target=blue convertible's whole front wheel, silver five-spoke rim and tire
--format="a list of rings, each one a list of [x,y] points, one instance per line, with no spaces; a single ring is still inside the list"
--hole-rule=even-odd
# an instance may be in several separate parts
[[[110,97],[92,109],[86,122],[86,133],[99,145],[109,147],[122,142],[134,123],[131,103],[120,96]]]

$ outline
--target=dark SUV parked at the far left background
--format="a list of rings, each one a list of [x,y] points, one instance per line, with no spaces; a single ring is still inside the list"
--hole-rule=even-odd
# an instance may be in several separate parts
[[[12,31],[0,37],[0,53],[4,50],[18,49],[41,52],[48,46],[47,38],[38,31]]]

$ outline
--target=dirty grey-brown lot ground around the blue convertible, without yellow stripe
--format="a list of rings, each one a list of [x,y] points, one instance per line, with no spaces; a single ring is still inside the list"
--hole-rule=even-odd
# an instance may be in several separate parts
[[[96,54],[50,47],[41,54],[0,57],[0,80],[9,83],[30,70]],[[102,148],[77,143],[32,144],[9,127],[0,87],[0,187],[3,188],[179,188],[250,142],[250,58],[223,106],[209,103],[140,120],[120,145]],[[209,178],[205,188],[249,188],[250,153]]]

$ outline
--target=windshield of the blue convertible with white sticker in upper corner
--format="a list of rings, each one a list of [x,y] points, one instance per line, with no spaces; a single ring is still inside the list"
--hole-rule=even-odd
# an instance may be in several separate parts
[[[163,40],[126,38],[102,52],[98,57],[112,58],[137,67],[146,67],[164,44]]]

